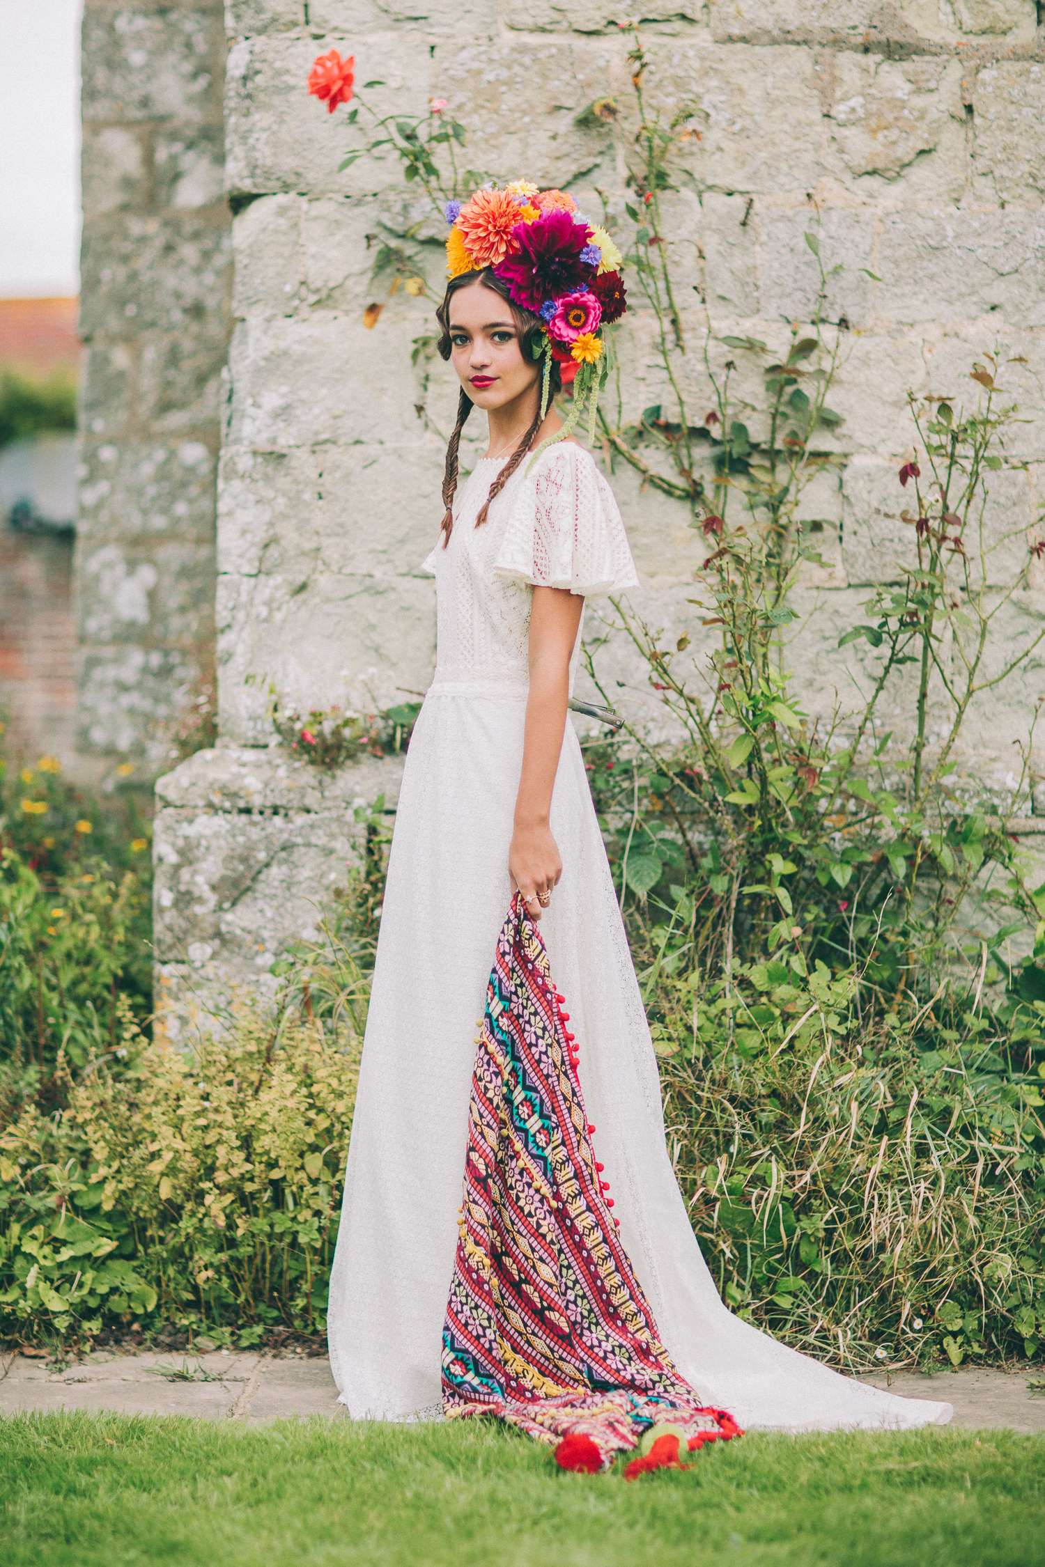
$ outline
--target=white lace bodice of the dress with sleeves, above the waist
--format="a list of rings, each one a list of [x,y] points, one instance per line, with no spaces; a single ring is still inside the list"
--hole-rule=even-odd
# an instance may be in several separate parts
[[[504,458],[479,458],[454,495],[454,525],[421,570],[436,577],[436,680],[489,679],[526,686],[533,588],[620,592],[639,578],[616,497],[591,451],[559,440],[526,473],[523,458],[475,527]],[[570,655],[570,694],[583,636]]]

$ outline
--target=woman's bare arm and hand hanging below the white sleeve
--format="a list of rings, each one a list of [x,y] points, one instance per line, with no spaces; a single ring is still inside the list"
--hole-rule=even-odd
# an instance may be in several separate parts
[[[515,820],[508,868],[523,893],[550,890],[562,874],[551,837],[551,790],[562,751],[569,697],[570,653],[584,599],[569,588],[534,588],[530,611],[530,696],[523,732],[523,760],[515,796]],[[541,904],[526,907],[534,920]]]

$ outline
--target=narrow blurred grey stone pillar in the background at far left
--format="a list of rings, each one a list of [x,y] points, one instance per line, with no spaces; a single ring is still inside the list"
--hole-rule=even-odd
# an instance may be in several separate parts
[[[155,776],[160,726],[213,671],[221,0],[86,0],[81,60],[78,738]]]

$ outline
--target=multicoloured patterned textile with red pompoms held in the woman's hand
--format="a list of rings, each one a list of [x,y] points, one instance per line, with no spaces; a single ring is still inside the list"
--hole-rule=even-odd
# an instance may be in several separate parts
[[[443,1319],[447,1417],[494,1415],[608,1468],[653,1424],[738,1435],[678,1374],[620,1244],[573,1034],[519,892],[476,1036],[464,1202]],[[566,1439],[566,1442],[564,1442]],[[589,1440],[583,1440],[589,1439]],[[594,1445],[594,1446],[592,1446]]]

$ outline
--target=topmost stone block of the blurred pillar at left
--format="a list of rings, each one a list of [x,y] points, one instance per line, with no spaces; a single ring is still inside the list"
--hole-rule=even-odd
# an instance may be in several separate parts
[[[221,8],[86,8],[83,119],[221,122]]]

